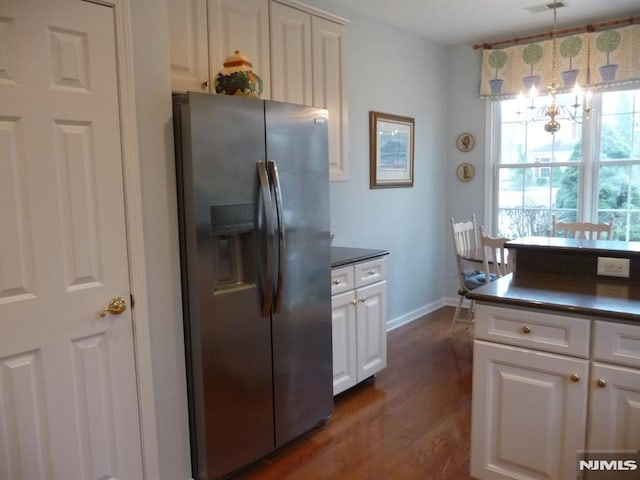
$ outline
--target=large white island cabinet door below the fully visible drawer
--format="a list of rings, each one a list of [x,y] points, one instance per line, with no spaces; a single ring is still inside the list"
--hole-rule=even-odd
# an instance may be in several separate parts
[[[476,340],[471,476],[574,478],[587,373],[587,360]]]

